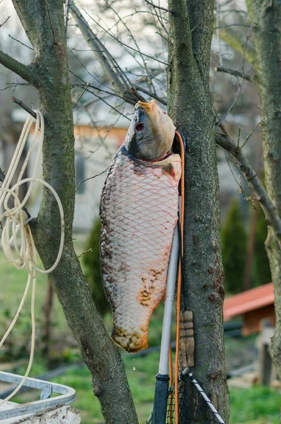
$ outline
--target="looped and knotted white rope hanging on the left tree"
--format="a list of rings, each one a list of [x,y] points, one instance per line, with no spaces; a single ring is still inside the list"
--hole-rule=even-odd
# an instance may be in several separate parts
[[[50,184],[36,177],[38,166],[40,163],[40,158],[41,158],[42,143],[44,140],[44,118],[42,114],[38,111],[36,111],[36,115],[37,115],[37,119],[34,119],[33,117],[28,117],[28,119],[25,121],[25,124],[23,126],[23,131],[21,132],[21,137],[18,141],[18,145],[16,146],[16,151],[13,154],[13,159],[11,160],[11,165],[8,167],[6,177],[0,189],[0,210],[4,209],[4,212],[0,214],[0,221],[5,220],[3,231],[2,231],[2,237],[1,237],[4,253],[8,261],[10,262],[10,264],[15,266],[16,269],[26,269],[28,271],[28,281],[25,286],[23,298],[21,299],[21,303],[18,307],[15,317],[13,318],[13,321],[8,327],[6,334],[4,334],[3,338],[0,341],[0,348],[1,346],[3,346],[4,341],[6,340],[8,335],[11,333],[13,326],[16,324],[18,316],[21,313],[26,297],[28,295],[30,283],[32,280],[32,294],[31,294],[32,331],[31,331],[31,347],[30,347],[30,358],[28,361],[28,367],[21,383],[18,384],[18,387],[16,387],[13,393],[11,393],[9,396],[6,397],[6,399],[0,402],[0,406],[4,404],[4,402],[11,399],[18,392],[18,390],[21,389],[21,387],[23,386],[25,380],[27,379],[29,375],[30,368],[33,363],[33,355],[34,355],[34,349],[35,349],[34,303],[35,303],[36,274],[37,272],[50,273],[54,271],[57,264],[59,263],[59,260],[62,257],[62,249],[64,247],[64,211],[62,209],[62,202],[60,201],[59,196],[57,195],[57,192],[55,192],[55,189],[53,189],[52,186],[50,186]],[[13,177],[15,175],[16,169],[18,167],[18,164],[21,160],[21,156],[23,155],[23,149],[25,148],[25,144],[27,143],[28,136],[30,134],[30,129],[33,126],[33,124],[35,124],[35,131],[30,141],[28,153],[24,160],[23,166],[21,167],[21,171],[18,175],[16,184],[14,184],[13,187],[10,187]],[[38,140],[38,143],[36,143],[37,140]],[[33,167],[32,176],[29,178],[22,179],[25,169],[28,165],[28,161],[30,160],[31,153],[33,153],[33,151],[36,148],[36,144],[37,144],[37,153],[35,157],[35,165]],[[25,184],[27,182],[29,182],[30,185],[28,187],[28,190],[27,190],[27,193],[25,194],[24,199],[21,201],[21,199],[19,199],[18,197],[19,188],[21,187],[22,184]],[[32,217],[28,218],[27,213],[23,211],[23,207],[25,206],[25,204],[27,204],[28,199],[30,198],[35,182],[38,182],[42,184],[43,186],[47,187],[47,189],[50,189],[52,194],[55,196],[55,199],[57,201],[57,206],[59,207],[59,214],[60,214],[60,221],[61,221],[61,239],[59,244],[59,252],[57,254],[57,259],[55,260],[55,263],[50,267],[50,269],[47,269],[47,270],[40,269],[37,266],[35,243],[33,240],[33,235],[30,230],[30,226],[28,225]],[[8,201],[10,199],[11,199],[11,203],[13,203],[13,206],[11,208],[8,206]],[[20,232],[20,237],[17,238],[18,231]],[[13,245],[14,252],[12,250],[12,245]]]

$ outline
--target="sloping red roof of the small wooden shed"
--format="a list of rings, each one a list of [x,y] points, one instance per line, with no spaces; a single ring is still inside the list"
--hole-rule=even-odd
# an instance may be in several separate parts
[[[274,303],[273,283],[251,288],[224,301],[224,321]]]

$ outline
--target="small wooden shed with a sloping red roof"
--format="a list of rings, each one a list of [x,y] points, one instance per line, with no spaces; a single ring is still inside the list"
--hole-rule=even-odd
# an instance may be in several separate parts
[[[270,324],[275,326],[273,283],[260,285],[226,299],[224,322],[238,315],[243,316],[243,336],[258,333],[260,321],[264,318],[270,319]]]

